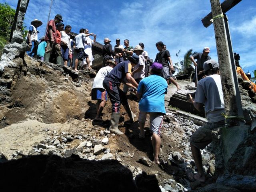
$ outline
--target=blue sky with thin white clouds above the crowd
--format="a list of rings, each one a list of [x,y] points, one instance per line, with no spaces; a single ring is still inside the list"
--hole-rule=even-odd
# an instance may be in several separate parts
[[[0,0],[16,9],[18,0]],[[25,15],[25,26],[37,18],[43,22],[38,28],[43,36],[51,0],[30,0]],[[223,0],[221,0],[223,2]],[[50,19],[61,14],[64,24],[78,33],[88,28],[97,34],[102,43],[105,37],[112,40],[130,40],[130,45],[145,45],[150,58],[155,58],[156,42],[162,41],[170,51],[173,63],[190,48],[201,52],[210,47],[210,56],[217,60],[213,25],[205,28],[201,18],[211,11],[210,0],[54,0]],[[233,50],[240,54],[240,65],[245,72],[256,69],[256,1],[242,0],[227,13]]]

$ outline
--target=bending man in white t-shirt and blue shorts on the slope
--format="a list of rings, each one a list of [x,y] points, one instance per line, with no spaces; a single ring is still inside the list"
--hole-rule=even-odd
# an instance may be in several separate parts
[[[107,101],[107,92],[103,87],[103,80],[104,78],[110,73],[110,71],[116,66],[116,63],[112,60],[106,61],[107,66],[100,68],[98,73],[96,74],[96,77],[94,78],[94,81],[92,83],[92,100],[97,100],[96,103],[96,109],[97,109],[97,115],[94,118],[94,120],[101,121],[102,117],[100,116],[103,108],[106,105]]]

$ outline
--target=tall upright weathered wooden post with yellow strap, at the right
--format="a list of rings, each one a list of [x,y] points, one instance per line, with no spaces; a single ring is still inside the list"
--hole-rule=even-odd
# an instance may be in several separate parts
[[[230,10],[234,4],[240,1],[241,0],[226,0],[222,5],[225,7],[225,10]],[[243,117],[244,115],[240,90],[238,88],[228,19],[222,10],[220,0],[210,0],[210,2],[226,116],[236,116],[236,118],[232,119],[227,118],[226,122],[228,126],[242,125],[244,121],[239,117]]]

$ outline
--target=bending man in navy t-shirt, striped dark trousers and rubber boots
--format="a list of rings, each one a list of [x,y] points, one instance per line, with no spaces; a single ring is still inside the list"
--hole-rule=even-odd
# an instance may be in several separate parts
[[[110,119],[110,132],[116,134],[123,134],[118,129],[118,122],[120,118],[120,104],[122,103],[128,116],[130,122],[134,121],[134,114],[128,104],[126,94],[119,88],[121,82],[131,86],[136,89],[138,84],[132,77],[132,67],[134,67],[139,62],[139,56],[133,55],[128,57],[127,61],[119,63],[104,79],[103,87],[108,92],[108,96],[112,103],[112,114]]]

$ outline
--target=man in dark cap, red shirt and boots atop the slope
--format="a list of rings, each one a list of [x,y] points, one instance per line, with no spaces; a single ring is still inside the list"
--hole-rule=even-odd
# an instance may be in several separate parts
[[[54,20],[50,20],[46,26],[45,40],[47,43],[47,47],[46,52],[44,53],[45,62],[49,62],[50,57],[53,56],[53,54],[55,54],[57,57],[61,56],[60,47],[56,43],[56,24],[58,24],[59,22],[63,22],[63,20],[62,16],[60,14],[57,14],[54,17]]]

